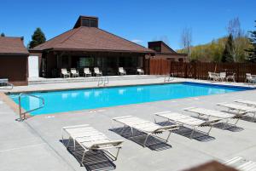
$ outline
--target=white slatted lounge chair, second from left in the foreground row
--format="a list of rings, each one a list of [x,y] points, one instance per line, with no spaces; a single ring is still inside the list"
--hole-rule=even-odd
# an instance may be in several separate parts
[[[145,140],[143,141],[143,147],[146,146],[149,136],[154,136],[159,140],[164,140],[165,142],[168,142],[172,131],[177,130],[179,128],[179,125],[160,126],[158,124],[149,122],[147,120],[143,120],[139,117],[132,117],[132,116],[114,117],[112,120],[114,122],[123,124],[125,126],[124,128],[126,127],[131,128],[132,136],[134,136],[134,129],[137,129],[138,131],[146,134]],[[166,131],[169,131],[169,134],[166,139],[156,135]],[[142,136],[142,135],[138,135],[138,136]]]

